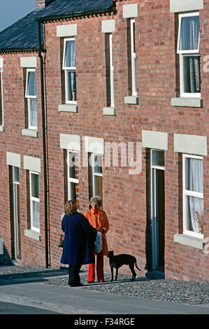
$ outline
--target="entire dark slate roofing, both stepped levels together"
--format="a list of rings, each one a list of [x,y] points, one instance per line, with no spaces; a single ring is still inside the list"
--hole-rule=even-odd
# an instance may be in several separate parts
[[[38,20],[71,17],[82,13],[101,13],[113,6],[113,2],[113,0],[55,0],[46,8],[32,11],[1,31],[0,52],[38,51]],[[43,41],[43,31],[41,38]]]

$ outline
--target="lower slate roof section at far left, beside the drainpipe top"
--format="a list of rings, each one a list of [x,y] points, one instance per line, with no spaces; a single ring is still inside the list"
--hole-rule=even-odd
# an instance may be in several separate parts
[[[36,18],[40,15],[40,11],[32,11],[0,32],[0,52],[38,50],[38,22],[36,22]]]

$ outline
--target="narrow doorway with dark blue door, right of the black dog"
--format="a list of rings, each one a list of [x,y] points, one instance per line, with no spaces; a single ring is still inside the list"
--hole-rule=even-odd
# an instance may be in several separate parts
[[[152,270],[164,271],[164,151],[151,150]]]

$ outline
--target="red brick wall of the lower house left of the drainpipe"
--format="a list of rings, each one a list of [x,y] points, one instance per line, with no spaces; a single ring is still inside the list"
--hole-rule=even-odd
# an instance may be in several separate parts
[[[24,170],[23,156],[28,155],[42,161],[42,132],[41,132],[41,97],[37,97],[38,106],[38,133],[39,138],[27,137],[22,135],[22,129],[25,128],[25,99],[24,69],[20,67],[20,57],[36,56],[38,67],[36,68],[36,90],[40,90],[40,69],[37,53],[15,53],[3,55],[3,109],[4,109],[4,127],[5,132],[1,132],[1,221],[0,235],[11,255],[11,228],[10,222],[12,214],[10,213],[10,190],[9,190],[9,167],[6,165],[6,152],[20,154],[20,221],[21,221],[21,246],[22,262],[45,265],[44,259],[44,233],[42,241],[30,239],[24,235],[24,230],[29,228],[29,214],[27,213],[27,202],[29,195],[27,193],[27,171]],[[14,69],[15,68],[15,69]],[[43,170],[40,174],[40,198],[43,199]],[[41,218],[44,218],[44,203],[40,202]],[[44,221],[41,220],[41,232],[44,232]]]

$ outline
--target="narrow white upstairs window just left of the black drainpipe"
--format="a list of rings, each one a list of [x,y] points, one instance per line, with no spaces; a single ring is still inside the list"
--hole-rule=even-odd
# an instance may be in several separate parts
[[[35,69],[27,69],[25,97],[28,104],[28,127],[37,129],[36,76]]]

